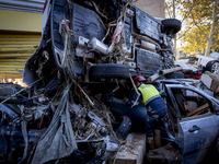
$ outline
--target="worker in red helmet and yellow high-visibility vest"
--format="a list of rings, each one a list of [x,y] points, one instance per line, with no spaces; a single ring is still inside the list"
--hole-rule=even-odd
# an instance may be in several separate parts
[[[143,81],[146,81],[146,79],[141,75],[134,79],[140,96],[135,92],[131,101],[125,98],[124,102],[126,102],[126,105],[131,107],[139,103],[146,106],[147,144],[149,149],[153,149],[153,129],[160,126],[161,120],[164,119],[168,112],[165,102],[161,97],[161,95],[166,96],[166,94],[152,84],[143,84]]]

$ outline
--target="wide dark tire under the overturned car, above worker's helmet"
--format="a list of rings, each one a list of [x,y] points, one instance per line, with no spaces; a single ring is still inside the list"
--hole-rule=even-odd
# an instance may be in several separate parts
[[[91,68],[90,70],[91,80],[97,80],[104,78],[128,79],[129,69],[127,66],[118,63],[101,63],[101,65],[95,65]]]

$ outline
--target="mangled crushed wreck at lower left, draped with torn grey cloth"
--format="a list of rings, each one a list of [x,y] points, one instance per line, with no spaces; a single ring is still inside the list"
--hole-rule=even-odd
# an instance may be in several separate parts
[[[69,101],[70,86],[49,102],[41,95],[25,97],[32,90],[0,105],[0,163],[102,163],[116,152],[117,137],[127,136],[130,119],[124,116],[122,121],[114,120],[117,126],[113,127],[111,113],[99,103],[93,102],[92,107]],[[20,96],[27,101],[18,103]]]

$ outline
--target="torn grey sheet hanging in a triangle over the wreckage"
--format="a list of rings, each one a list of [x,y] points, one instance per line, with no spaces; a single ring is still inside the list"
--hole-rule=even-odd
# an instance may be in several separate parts
[[[32,164],[43,164],[51,160],[62,159],[78,149],[68,110],[70,86],[71,84],[64,90],[54,118],[38,141]]]

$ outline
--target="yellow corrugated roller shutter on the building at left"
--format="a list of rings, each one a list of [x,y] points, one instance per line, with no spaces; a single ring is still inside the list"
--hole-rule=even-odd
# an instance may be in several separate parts
[[[24,65],[39,40],[41,34],[0,33],[0,78],[22,78]]]

